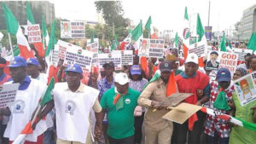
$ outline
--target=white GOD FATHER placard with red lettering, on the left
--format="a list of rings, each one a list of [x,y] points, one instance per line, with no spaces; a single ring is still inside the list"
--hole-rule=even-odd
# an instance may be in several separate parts
[[[25,29],[24,34],[27,36],[28,43],[41,42],[41,30],[38,24],[21,27]]]

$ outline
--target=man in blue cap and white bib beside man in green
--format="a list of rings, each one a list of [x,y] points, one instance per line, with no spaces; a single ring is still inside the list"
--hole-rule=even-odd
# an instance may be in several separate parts
[[[67,82],[55,84],[54,95],[57,144],[91,144],[90,111],[96,115],[95,135],[102,135],[100,123],[102,107],[98,101],[99,90],[80,82],[82,68],[77,64],[67,66]],[[48,107],[46,107],[48,109]],[[49,108],[50,109],[50,108]]]

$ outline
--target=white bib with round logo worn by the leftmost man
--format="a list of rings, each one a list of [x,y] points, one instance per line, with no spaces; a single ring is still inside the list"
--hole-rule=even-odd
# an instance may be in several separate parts
[[[13,83],[8,82],[6,84]],[[38,101],[46,89],[46,84],[31,78],[31,83],[25,90],[18,90],[15,102],[9,106],[11,115],[9,123],[4,132],[4,137],[9,137],[9,141],[14,141],[15,138],[20,135],[20,132],[25,128],[26,124],[32,117],[32,113],[38,106]],[[49,118],[47,120],[41,120],[33,131],[32,135],[26,136],[26,141],[37,141],[38,135],[42,135],[45,130],[52,126],[52,121]]]

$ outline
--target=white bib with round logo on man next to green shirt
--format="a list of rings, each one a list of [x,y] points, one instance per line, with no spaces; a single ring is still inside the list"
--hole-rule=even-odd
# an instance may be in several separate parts
[[[73,92],[67,83],[55,84],[53,90],[57,138],[85,143],[90,127],[89,113],[99,90],[84,85],[83,92]]]

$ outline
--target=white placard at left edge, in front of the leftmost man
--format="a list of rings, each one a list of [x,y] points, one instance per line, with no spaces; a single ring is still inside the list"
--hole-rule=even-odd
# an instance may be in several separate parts
[[[10,103],[15,101],[15,96],[19,88],[16,84],[3,84],[0,86],[0,108],[6,108]]]

